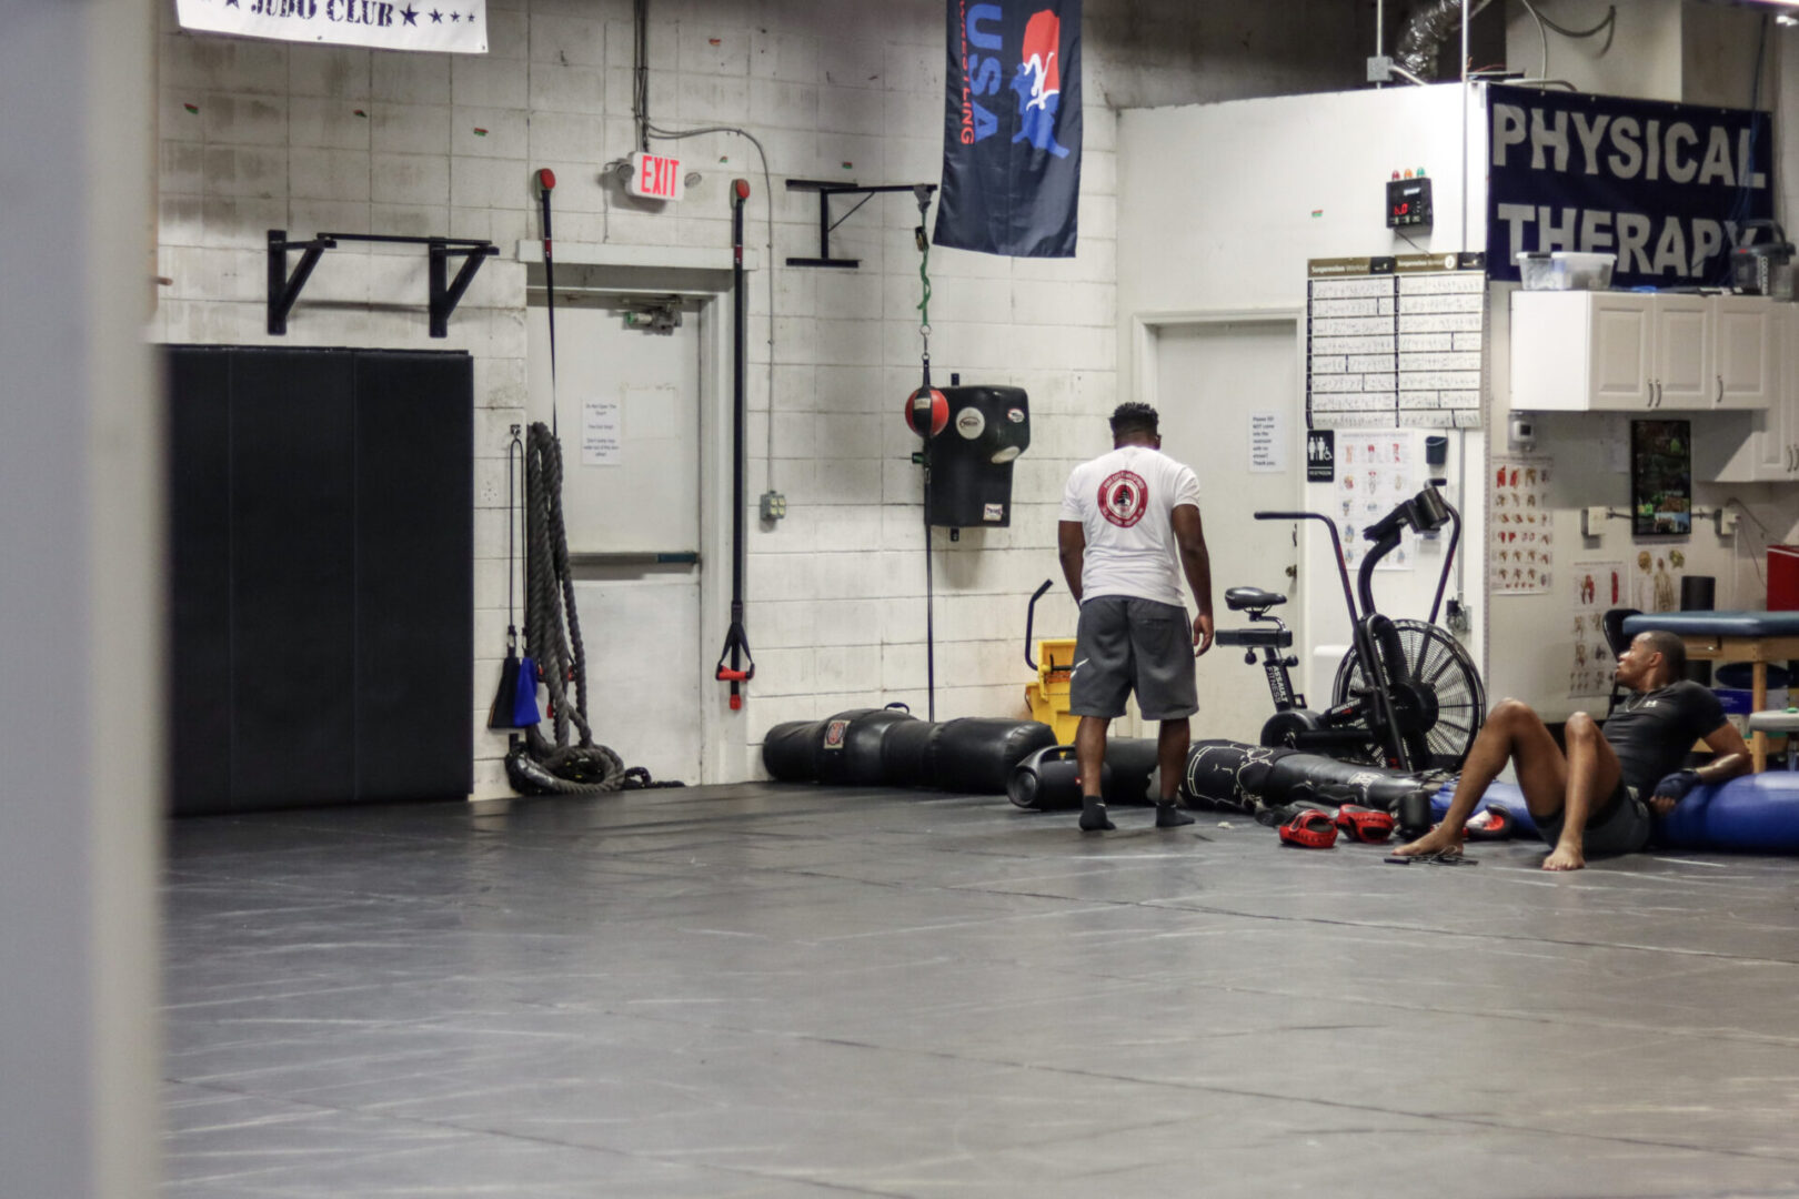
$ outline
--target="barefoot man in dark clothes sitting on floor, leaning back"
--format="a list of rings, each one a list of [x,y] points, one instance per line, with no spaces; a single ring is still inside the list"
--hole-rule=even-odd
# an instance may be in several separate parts
[[[1567,723],[1567,753],[1518,699],[1499,703],[1468,751],[1443,823],[1400,856],[1461,852],[1463,827],[1488,784],[1513,762],[1531,820],[1553,850],[1544,870],[1580,870],[1587,856],[1633,854],[1650,841],[1650,813],[1666,816],[1702,782],[1750,769],[1743,735],[1723,719],[1718,697],[1682,678],[1686,647],[1673,633],[1639,633],[1617,656],[1617,681],[1630,688],[1599,724],[1585,712]],[[1696,739],[1718,755],[1680,769]]]

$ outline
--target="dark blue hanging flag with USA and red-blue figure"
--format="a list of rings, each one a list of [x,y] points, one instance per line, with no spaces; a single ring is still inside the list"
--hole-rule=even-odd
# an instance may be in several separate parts
[[[939,246],[1074,257],[1081,0],[948,0]]]

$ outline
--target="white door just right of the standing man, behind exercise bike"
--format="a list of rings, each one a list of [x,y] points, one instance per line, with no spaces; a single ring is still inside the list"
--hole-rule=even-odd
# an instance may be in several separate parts
[[[1256,511],[1302,507],[1304,412],[1293,322],[1164,325],[1155,347],[1151,403],[1162,413],[1162,449],[1200,476],[1216,626],[1247,624],[1225,608],[1225,590],[1236,586],[1286,595],[1288,602],[1275,613],[1295,624],[1301,595],[1293,527],[1254,518]],[[1250,424],[1258,417],[1272,417],[1279,430],[1284,451],[1279,471],[1250,469]],[[1214,645],[1200,660],[1198,678],[1200,714],[1193,735],[1256,744],[1263,721],[1274,714],[1261,669],[1247,665],[1241,651]]]

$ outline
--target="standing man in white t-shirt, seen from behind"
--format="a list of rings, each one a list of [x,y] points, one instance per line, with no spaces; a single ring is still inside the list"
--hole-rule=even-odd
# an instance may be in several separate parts
[[[1069,712],[1081,717],[1074,759],[1081,768],[1081,832],[1114,823],[1099,795],[1106,726],[1137,692],[1144,719],[1160,721],[1162,795],[1155,827],[1191,825],[1175,805],[1200,710],[1193,660],[1213,647],[1213,566],[1200,530],[1200,480],[1162,453],[1157,412],[1119,404],[1112,453],[1083,462],[1061,493],[1061,573],[1081,606]],[[1178,563],[1178,568],[1177,568]],[[1187,624],[1180,577],[1200,618]]]

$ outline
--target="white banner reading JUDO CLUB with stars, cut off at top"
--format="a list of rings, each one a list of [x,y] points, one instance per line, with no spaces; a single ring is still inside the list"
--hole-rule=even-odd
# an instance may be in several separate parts
[[[378,50],[488,52],[488,0],[176,0],[182,29]]]

